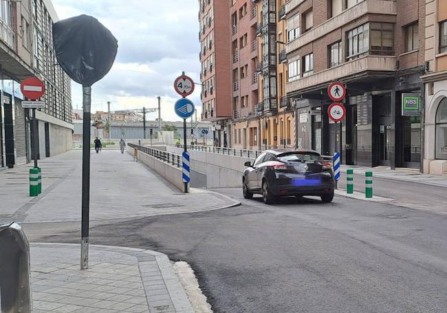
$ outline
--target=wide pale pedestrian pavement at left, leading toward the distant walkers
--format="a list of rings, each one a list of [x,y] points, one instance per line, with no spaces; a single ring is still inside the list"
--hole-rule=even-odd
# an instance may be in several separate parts
[[[0,172],[0,223],[80,220],[82,153],[70,151],[39,162],[43,193],[29,197],[29,166]],[[91,153],[91,221],[210,211],[237,206],[230,197],[194,189],[180,193],[129,153]]]

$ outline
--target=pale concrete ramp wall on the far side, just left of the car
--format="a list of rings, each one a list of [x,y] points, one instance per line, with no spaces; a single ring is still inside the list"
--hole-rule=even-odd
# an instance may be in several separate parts
[[[167,147],[171,153],[183,152],[182,148]],[[206,175],[207,188],[230,188],[242,186],[242,174],[246,169],[243,164],[253,162],[254,158],[244,158],[234,155],[219,153],[207,153],[188,150],[190,154],[191,170],[199,171]]]

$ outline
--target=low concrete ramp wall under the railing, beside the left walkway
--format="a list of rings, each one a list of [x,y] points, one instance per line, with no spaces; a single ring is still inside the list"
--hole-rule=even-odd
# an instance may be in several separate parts
[[[166,151],[166,147],[165,150]],[[133,155],[133,148],[127,147],[127,152]],[[171,182],[179,191],[184,191],[182,180],[182,168],[168,164],[160,159],[154,158],[151,155],[138,151],[138,160],[149,169],[153,169],[156,173],[162,176],[168,182]],[[206,175],[200,173],[196,169],[191,169],[190,186],[193,188],[206,188]]]

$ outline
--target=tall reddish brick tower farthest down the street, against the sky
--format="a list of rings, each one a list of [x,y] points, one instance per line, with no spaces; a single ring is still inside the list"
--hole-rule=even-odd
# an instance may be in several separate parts
[[[230,5],[228,1],[199,0],[199,40],[202,84],[201,120],[213,122],[213,138],[230,142],[232,118],[232,63]]]

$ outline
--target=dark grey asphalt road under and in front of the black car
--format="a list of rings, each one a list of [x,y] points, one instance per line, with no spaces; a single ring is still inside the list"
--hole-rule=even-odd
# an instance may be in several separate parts
[[[92,224],[90,241],[187,261],[214,312],[447,312],[446,215],[346,197],[266,206],[239,188],[219,192],[242,206]],[[24,228],[31,241],[78,243],[78,223]]]

